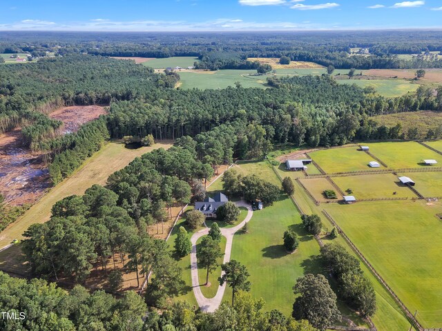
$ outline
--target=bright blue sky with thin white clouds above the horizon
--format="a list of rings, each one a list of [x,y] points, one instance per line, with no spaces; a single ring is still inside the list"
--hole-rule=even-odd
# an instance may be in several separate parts
[[[442,0],[0,0],[0,30],[442,28]]]

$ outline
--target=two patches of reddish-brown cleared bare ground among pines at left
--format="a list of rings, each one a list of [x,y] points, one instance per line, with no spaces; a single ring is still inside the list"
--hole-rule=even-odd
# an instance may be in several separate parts
[[[103,106],[64,107],[50,113],[50,118],[64,122],[61,134],[77,132],[81,125],[106,114]],[[0,193],[9,205],[35,203],[50,187],[44,154],[23,147],[19,128],[0,134]]]

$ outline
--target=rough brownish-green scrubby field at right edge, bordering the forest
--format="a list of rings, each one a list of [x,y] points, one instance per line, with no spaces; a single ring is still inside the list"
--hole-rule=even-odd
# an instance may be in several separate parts
[[[372,117],[372,119],[388,128],[396,126],[397,123],[401,123],[402,132],[405,133],[410,128],[417,128],[420,139],[425,138],[428,130],[436,130],[442,127],[442,112],[432,112],[430,110],[378,115]]]

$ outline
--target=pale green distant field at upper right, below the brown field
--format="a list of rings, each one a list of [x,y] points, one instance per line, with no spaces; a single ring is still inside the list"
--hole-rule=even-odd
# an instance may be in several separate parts
[[[405,79],[338,79],[340,84],[356,84],[361,88],[372,86],[384,97],[401,97],[408,92],[415,92],[419,84],[410,83]]]

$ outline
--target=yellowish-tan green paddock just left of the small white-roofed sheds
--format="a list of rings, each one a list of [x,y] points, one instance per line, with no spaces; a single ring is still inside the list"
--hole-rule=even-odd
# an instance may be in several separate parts
[[[422,173],[416,172],[415,174]],[[434,172],[432,173],[434,174]],[[427,173],[425,172],[424,174]],[[402,185],[394,174],[362,174],[358,176],[333,177],[332,180],[344,192],[351,189],[352,195],[356,199],[417,198],[416,194],[410,188]]]

